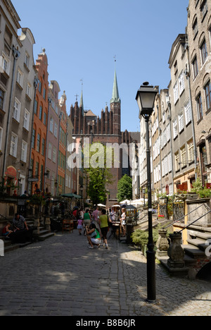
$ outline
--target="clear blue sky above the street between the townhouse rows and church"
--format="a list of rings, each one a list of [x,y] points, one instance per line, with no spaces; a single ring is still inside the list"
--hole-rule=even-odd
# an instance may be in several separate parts
[[[34,35],[34,61],[42,48],[49,82],[101,116],[112,97],[116,70],[122,130],[139,130],[136,92],[144,81],[167,88],[172,44],[187,24],[188,0],[12,0],[20,25]],[[20,32],[19,32],[20,34]]]

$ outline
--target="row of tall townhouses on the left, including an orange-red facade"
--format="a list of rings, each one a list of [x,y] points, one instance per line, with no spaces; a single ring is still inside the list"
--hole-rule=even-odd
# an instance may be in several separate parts
[[[76,189],[68,166],[72,122],[66,95],[49,84],[45,49],[34,63],[32,32],[21,29],[10,0],[0,1],[0,176],[8,195]],[[14,188],[16,187],[16,188]]]

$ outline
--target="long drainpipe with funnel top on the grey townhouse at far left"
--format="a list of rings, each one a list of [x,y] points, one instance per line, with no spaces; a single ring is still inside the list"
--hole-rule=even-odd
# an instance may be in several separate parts
[[[8,106],[8,117],[7,117],[7,124],[6,124],[6,140],[5,140],[5,146],[4,146],[4,161],[3,161],[2,178],[4,178],[4,174],[6,171],[6,156],[7,156],[7,152],[8,152],[8,131],[9,131],[9,125],[11,122],[11,113],[12,113],[11,103],[12,103],[14,80],[15,80],[15,68],[16,68],[16,63],[17,63],[19,56],[20,56],[20,51],[18,51],[18,49],[15,49],[15,47],[13,46],[13,57],[14,57],[13,76],[12,76],[12,82],[11,82],[11,94],[10,94],[10,100],[9,100],[9,106]]]

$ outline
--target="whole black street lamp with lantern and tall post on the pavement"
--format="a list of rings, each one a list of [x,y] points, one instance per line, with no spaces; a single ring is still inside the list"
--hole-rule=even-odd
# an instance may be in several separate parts
[[[147,301],[155,302],[155,250],[153,242],[153,209],[152,209],[152,187],[151,187],[151,150],[149,142],[149,120],[153,114],[155,97],[158,90],[144,82],[136,94],[136,101],[139,105],[140,115],[146,121],[146,159],[148,178],[148,251],[147,256]]]

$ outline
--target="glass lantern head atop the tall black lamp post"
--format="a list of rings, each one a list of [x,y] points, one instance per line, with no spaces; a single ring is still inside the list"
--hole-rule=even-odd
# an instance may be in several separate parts
[[[158,90],[156,90],[155,87],[149,86],[148,82],[143,82],[143,85],[141,85],[136,94],[136,101],[141,116],[151,116],[151,114],[153,114],[153,107],[157,94]]]

